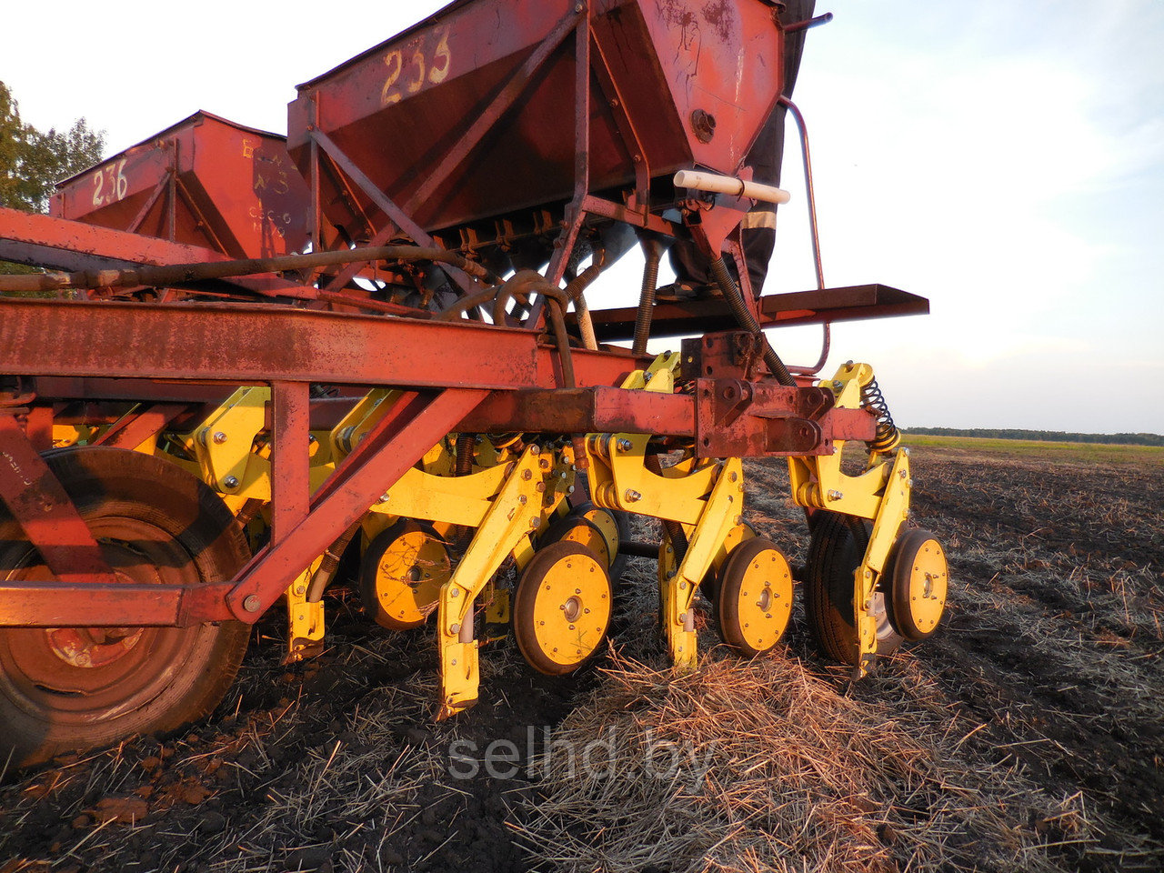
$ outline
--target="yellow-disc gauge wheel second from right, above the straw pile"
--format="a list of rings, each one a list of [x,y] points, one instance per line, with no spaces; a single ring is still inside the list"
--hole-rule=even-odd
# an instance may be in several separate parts
[[[724,643],[747,658],[780,643],[793,611],[793,573],[772,540],[755,537],[733,548],[716,589]]]

